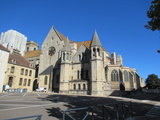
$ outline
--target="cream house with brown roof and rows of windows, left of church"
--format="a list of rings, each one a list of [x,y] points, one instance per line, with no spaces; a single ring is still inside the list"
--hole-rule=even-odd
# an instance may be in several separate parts
[[[18,50],[13,49],[9,55],[7,71],[3,85],[10,89],[26,89],[33,91],[35,68],[28,60],[21,56]]]

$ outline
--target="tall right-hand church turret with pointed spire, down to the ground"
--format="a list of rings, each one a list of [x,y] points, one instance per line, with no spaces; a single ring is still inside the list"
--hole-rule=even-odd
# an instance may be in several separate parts
[[[91,43],[91,95],[103,95],[103,52],[97,32]]]

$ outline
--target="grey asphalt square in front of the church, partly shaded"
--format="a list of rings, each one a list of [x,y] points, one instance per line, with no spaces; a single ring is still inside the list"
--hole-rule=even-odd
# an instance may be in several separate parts
[[[0,120],[34,115],[42,115],[42,120],[60,120],[63,117],[63,110],[89,106],[95,106],[95,120],[100,120],[102,119],[102,104],[120,103],[122,101],[132,101],[133,113],[136,116],[145,115],[149,109],[159,103],[158,101],[118,97],[76,96],[54,93],[1,93]],[[82,110],[75,113],[82,116],[83,112]]]

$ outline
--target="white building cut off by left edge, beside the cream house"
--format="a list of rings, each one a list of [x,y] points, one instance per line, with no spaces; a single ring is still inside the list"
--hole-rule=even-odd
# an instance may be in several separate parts
[[[5,80],[5,73],[7,71],[7,64],[9,58],[9,50],[0,44],[0,93],[3,90],[3,83]]]

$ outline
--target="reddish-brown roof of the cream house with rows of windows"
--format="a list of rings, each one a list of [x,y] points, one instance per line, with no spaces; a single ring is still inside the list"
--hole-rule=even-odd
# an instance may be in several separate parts
[[[30,67],[30,63],[28,60],[26,60],[24,57],[21,56],[20,53],[12,53],[9,55],[8,63],[14,64],[13,60],[16,60],[16,65],[24,66],[24,67]]]

